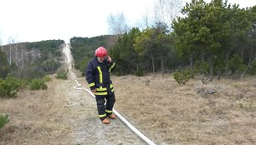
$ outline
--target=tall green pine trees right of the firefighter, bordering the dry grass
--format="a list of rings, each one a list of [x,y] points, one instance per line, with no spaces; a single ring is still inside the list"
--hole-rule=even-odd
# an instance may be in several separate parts
[[[228,1],[192,0],[168,26],[156,22],[119,37],[110,54],[118,74],[173,72],[241,76],[256,73],[256,6],[239,8]]]

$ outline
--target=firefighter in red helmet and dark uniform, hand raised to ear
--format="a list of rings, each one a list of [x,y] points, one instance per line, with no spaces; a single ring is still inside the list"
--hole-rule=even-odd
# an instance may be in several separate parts
[[[110,72],[114,68],[115,62],[108,56],[105,47],[98,47],[95,50],[94,59],[88,63],[85,71],[86,81],[89,83],[91,92],[95,94],[100,120],[105,124],[110,123],[107,117],[116,118],[112,111],[115,93],[110,80]]]

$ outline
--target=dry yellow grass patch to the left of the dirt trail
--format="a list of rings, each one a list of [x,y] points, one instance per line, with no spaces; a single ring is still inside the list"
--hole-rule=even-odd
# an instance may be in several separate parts
[[[70,144],[66,110],[59,105],[61,93],[54,92],[56,83],[49,82],[47,91],[22,90],[16,98],[0,99],[0,112],[10,117],[0,130],[0,144]]]

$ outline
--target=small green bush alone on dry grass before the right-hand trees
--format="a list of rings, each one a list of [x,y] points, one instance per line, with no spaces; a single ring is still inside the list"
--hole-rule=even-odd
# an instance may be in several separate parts
[[[179,85],[184,85],[190,78],[192,78],[191,71],[184,69],[181,71],[174,72],[174,79]]]

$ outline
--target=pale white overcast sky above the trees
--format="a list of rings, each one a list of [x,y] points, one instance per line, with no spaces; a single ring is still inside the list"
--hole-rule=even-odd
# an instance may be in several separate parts
[[[130,27],[153,13],[158,0],[0,0],[0,44],[110,34],[107,18],[124,13]],[[182,1],[182,0],[179,0]],[[191,0],[183,0],[191,2]],[[205,0],[210,2],[210,0]],[[184,3],[185,3],[184,2]],[[256,0],[228,0],[252,7]]]

